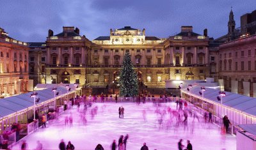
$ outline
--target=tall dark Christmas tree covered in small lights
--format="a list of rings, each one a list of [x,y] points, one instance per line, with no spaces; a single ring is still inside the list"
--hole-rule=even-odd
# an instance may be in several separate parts
[[[138,79],[133,70],[131,55],[126,53],[120,74],[120,96],[131,97],[138,95]]]

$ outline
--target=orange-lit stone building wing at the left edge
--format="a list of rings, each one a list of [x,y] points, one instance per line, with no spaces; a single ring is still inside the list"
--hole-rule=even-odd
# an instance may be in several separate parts
[[[28,45],[0,28],[0,94],[10,96],[28,89]]]

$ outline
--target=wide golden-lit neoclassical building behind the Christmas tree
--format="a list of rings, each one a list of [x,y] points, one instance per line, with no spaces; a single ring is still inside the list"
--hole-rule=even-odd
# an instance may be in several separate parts
[[[88,40],[78,28],[49,30],[45,43],[29,43],[31,79],[38,83],[79,83],[118,89],[120,68],[131,54],[141,88],[165,88],[165,80],[193,80],[210,76],[209,38],[182,26],[169,38],[147,36],[145,29],[125,26],[110,29],[109,36]],[[33,62],[32,62],[32,61]],[[36,80],[35,80],[36,79]]]

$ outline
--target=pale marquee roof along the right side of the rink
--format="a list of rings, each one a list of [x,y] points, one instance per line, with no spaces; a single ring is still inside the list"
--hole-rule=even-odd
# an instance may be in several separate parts
[[[184,89],[184,91],[185,90],[186,89]],[[201,91],[201,87],[195,86],[190,89],[189,93],[196,96],[201,96],[199,94],[199,91]],[[207,100],[216,103],[221,103],[221,101],[218,101],[217,99],[219,91],[220,90],[218,89],[205,87],[204,98],[207,98]],[[230,107],[232,109],[236,109],[237,111],[245,112],[247,114],[251,114],[252,116],[256,116],[256,98],[230,92],[225,93],[226,96],[223,96],[222,98],[223,105],[225,105],[225,107]]]

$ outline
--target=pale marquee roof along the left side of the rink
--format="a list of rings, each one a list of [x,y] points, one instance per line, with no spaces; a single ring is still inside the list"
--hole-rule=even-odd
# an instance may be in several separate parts
[[[60,93],[58,96],[61,96],[66,93],[70,93],[74,91],[74,88],[71,88],[70,91],[63,86],[56,86],[57,91]],[[33,92],[19,94],[17,96],[11,96],[8,98],[3,98],[0,100],[0,117],[6,117],[10,114],[16,114],[17,112],[23,112],[29,109],[29,107],[33,107],[34,100],[30,98],[30,95]],[[52,100],[54,98],[54,93],[52,92],[52,88],[43,89],[40,91],[36,91],[38,93],[36,96],[40,98],[39,103],[45,103],[48,100]]]

